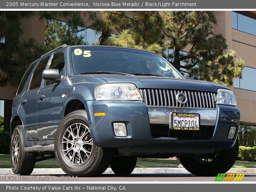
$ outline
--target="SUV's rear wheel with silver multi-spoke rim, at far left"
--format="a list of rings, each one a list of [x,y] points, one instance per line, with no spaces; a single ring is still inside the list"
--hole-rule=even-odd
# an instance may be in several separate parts
[[[10,144],[10,161],[14,174],[30,175],[36,163],[36,155],[31,152],[25,152],[26,140],[22,125],[16,126],[12,132]]]

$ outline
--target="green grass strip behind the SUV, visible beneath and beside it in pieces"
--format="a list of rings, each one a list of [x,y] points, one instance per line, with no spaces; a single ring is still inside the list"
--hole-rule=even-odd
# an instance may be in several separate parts
[[[178,167],[179,160],[138,158],[136,167]],[[35,168],[59,168],[56,158],[36,163]],[[0,154],[0,168],[10,168],[10,155]],[[256,162],[236,161],[233,168],[256,168]]]

